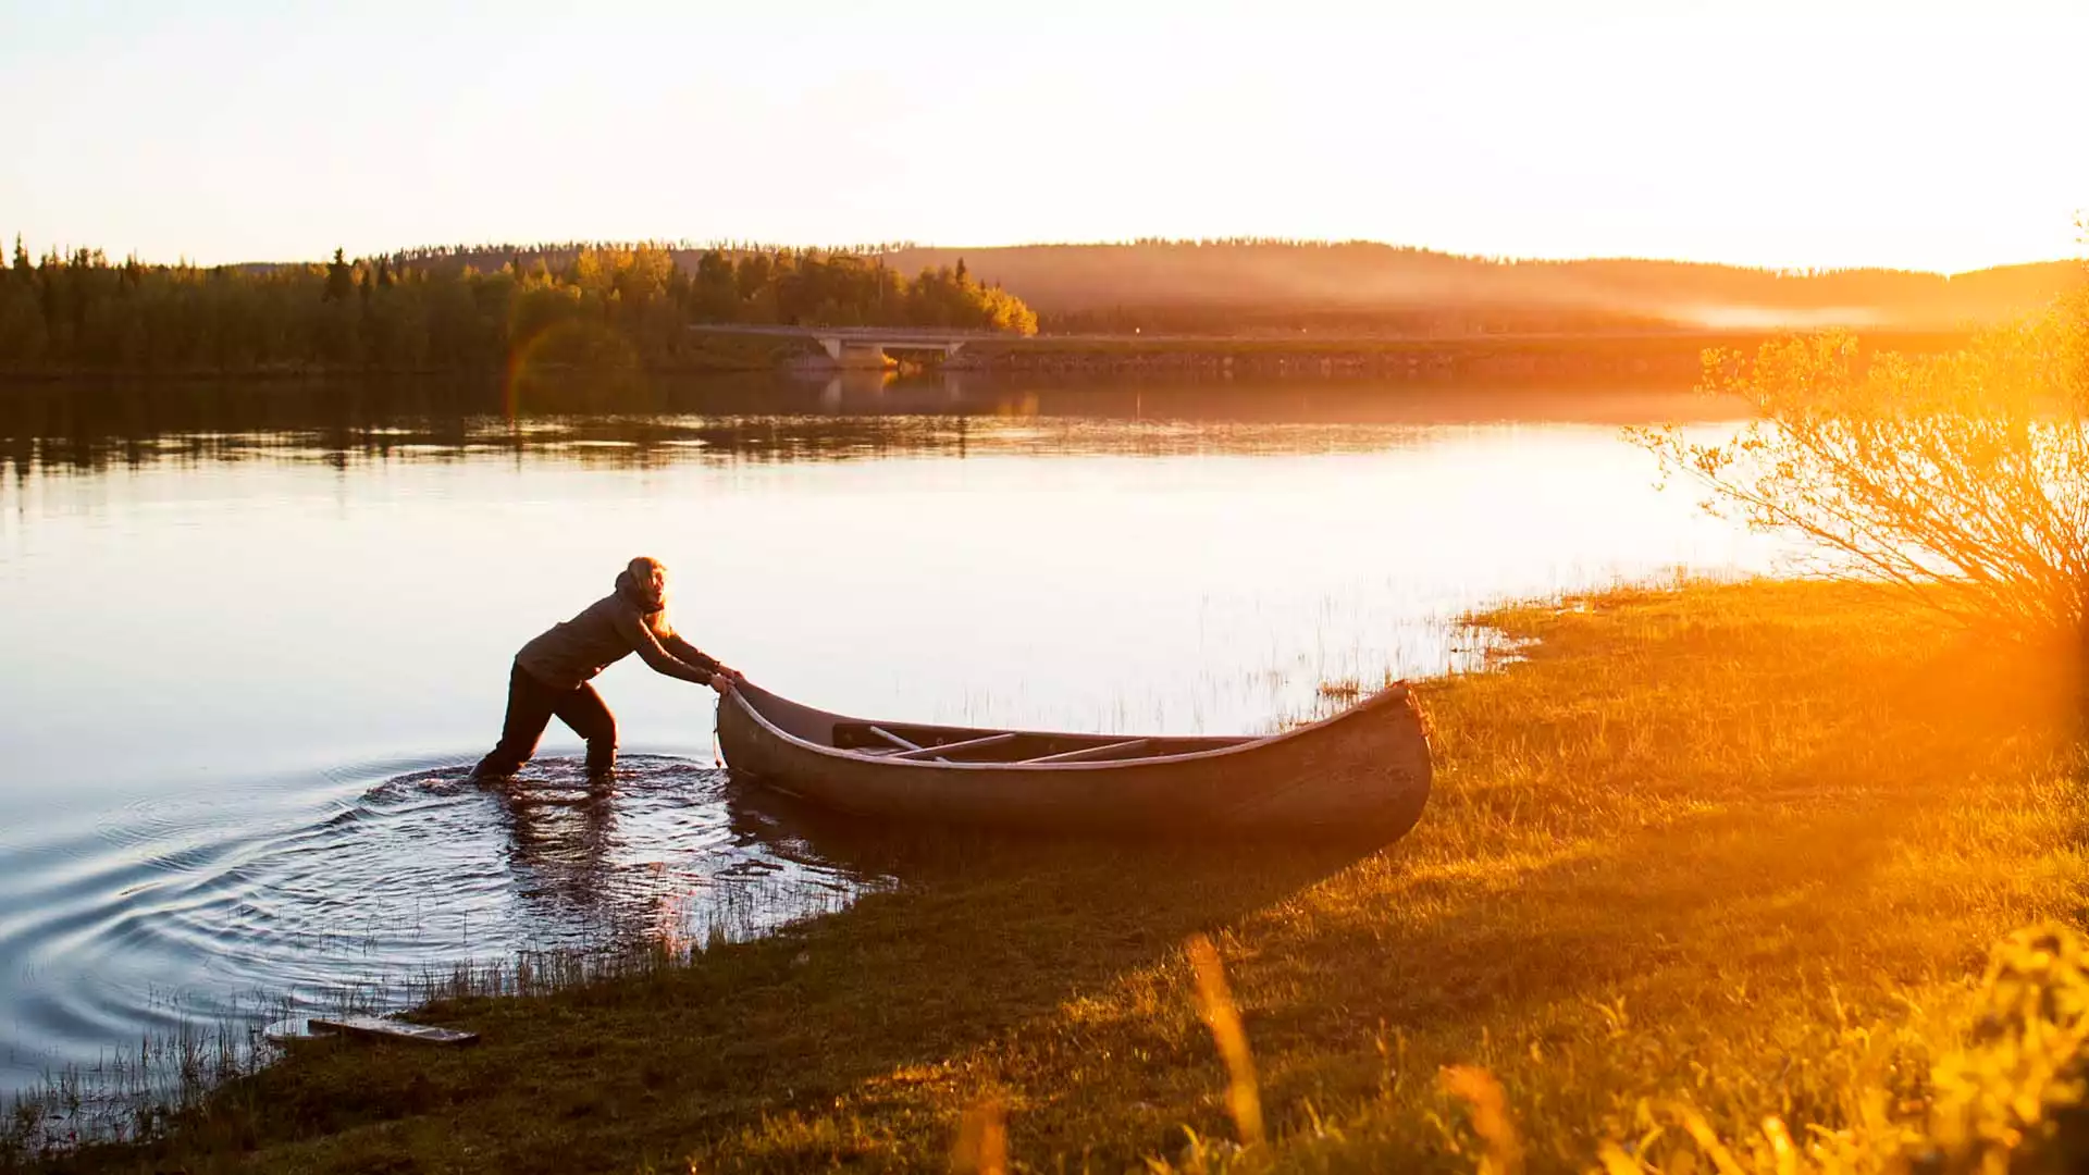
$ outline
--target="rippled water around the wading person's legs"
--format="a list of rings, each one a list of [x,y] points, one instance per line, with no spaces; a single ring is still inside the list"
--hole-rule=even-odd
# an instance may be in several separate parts
[[[121,807],[0,897],[0,1085],[466,960],[746,937],[871,880],[725,797],[679,759],[629,757],[610,794],[574,761],[483,788],[393,759]]]

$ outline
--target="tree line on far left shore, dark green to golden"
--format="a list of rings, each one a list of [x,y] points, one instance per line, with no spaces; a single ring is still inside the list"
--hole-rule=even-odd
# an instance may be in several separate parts
[[[497,268],[422,253],[292,266],[146,266],[21,238],[0,268],[0,370],[497,372],[704,366],[691,324],[932,326],[1036,332],[1036,316],[965,268],[905,276],[879,257],[664,245],[510,253]]]

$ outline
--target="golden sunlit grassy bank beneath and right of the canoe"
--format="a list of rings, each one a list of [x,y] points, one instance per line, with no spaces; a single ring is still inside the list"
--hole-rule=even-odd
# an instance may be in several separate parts
[[[1801,1146],[1922,1125],[1989,943],[2081,909],[2074,661],[1822,583],[1492,621],[1538,644],[1427,688],[1437,792],[1402,845],[863,838],[775,811],[900,886],[685,968],[428,1008],[476,1050],[311,1043],[77,1167],[1197,1167],[1218,1150],[1191,1131],[1237,1125],[1195,935],[1268,1123],[1243,1169],[1581,1171],[1611,1142],[1705,1171],[1690,1114],[1728,1139],[1774,1114]]]

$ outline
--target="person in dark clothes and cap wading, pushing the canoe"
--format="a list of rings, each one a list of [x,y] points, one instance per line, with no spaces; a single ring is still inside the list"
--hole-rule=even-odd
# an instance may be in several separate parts
[[[614,592],[516,652],[501,740],[472,767],[472,778],[493,782],[514,776],[537,753],[543,728],[558,715],[587,740],[587,782],[608,784],[616,769],[616,717],[587,682],[631,652],[656,673],[710,686],[721,696],[740,677],[675,636],[666,623],[666,567],[658,558],[633,558],[616,575]]]

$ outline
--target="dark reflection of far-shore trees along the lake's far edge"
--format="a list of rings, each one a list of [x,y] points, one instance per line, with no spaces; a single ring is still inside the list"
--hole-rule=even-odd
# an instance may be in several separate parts
[[[1387,385],[1003,381],[980,374],[834,381],[535,378],[495,383],[148,383],[0,395],[0,462],[29,473],[163,462],[533,456],[604,468],[829,462],[976,452],[1197,454],[1387,447],[1414,424],[1661,420],[1665,395]],[[1368,427],[1381,429],[1368,429]],[[1362,427],[1362,429],[1360,429]]]

